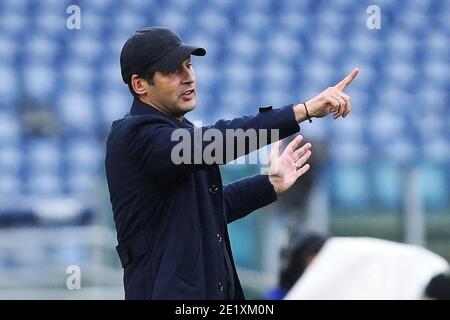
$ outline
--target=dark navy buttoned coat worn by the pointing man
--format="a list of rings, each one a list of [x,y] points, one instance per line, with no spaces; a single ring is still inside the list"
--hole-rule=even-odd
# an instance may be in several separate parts
[[[222,187],[217,164],[175,165],[171,151],[179,141],[171,134],[177,128],[194,134],[187,119],[135,99],[108,136],[106,175],[125,298],[244,299],[227,223],[275,201],[276,193],[266,175]],[[280,138],[299,130],[292,105],[260,108],[255,116],[221,120],[212,128],[280,129]],[[245,153],[252,151],[248,147]]]

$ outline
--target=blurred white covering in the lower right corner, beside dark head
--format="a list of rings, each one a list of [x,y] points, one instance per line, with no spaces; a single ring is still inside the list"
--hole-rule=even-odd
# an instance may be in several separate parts
[[[422,299],[448,262],[422,247],[374,238],[327,240],[287,300]]]

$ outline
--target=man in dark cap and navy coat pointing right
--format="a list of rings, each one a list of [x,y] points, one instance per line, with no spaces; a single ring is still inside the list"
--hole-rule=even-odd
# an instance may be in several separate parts
[[[223,134],[225,150],[236,142],[227,140],[226,130],[265,129],[270,142],[298,132],[298,124],[306,119],[328,113],[345,117],[351,109],[350,97],[342,90],[358,70],[306,105],[260,108],[252,117],[194,128],[184,117],[196,106],[190,56],[205,54],[161,27],[138,30],[121,52],[122,78],[134,101],[130,113],[113,122],[105,165],[126,299],[244,299],[227,223],[275,201],[309,169],[305,162],[311,145],[297,148],[302,140],[298,136],[281,156],[280,143],[275,144],[268,175],[222,187],[217,164],[253,151],[250,143],[241,153],[233,147],[212,164],[195,161],[196,151],[204,151],[208,143],[193,143],[193,154],[182,154],[187,161],[175,163],[175,132],[184,130],[195,140],[198,130],[215,129]],[[257,142],[258,148],[267,144]]]

